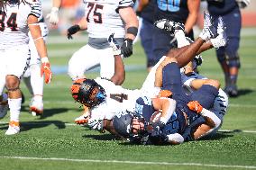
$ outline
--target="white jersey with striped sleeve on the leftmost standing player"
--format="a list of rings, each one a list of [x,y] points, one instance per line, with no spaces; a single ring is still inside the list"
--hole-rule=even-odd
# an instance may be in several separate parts
[[[29,43],[27,18],[41,16],[41,2],[8,4],[0,9],[0,49],[9,49]]]

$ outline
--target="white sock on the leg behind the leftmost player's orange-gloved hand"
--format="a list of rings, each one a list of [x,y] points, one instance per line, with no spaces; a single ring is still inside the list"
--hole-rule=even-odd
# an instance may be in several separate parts
[[[39,64],[31,66],[31,85],[33,95],[43,94],[43,77],[41,76],[41,67]]]

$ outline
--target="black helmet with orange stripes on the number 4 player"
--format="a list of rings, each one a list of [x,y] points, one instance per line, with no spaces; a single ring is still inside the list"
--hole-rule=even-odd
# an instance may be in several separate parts
[[[91,95],[96,88],[98,92],[95,98],[92,98]],[[105,102],[105,89],[101,85],[98,85],[93,79],[80,78],[74,81],[70,91],[75,101],[89,108],[96,107],[100,103]]]

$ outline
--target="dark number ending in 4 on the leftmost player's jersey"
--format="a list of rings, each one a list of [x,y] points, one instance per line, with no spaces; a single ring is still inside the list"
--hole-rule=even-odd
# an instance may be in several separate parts
[[[0,11],[0,31],[5,31],[5,17],[5,12]],[[7,27],[11,28],[12,31],[17,31],[16,19],[17,13],[12,13],[6,22]]]

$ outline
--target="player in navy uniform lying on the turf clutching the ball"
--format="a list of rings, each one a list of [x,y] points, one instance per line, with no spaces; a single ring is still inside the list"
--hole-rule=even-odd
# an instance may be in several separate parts
[[[158,98],[143,96],[137,99],[134,113],[142,118],[133,119],[129,113],[124,114],[124,117],[122,114],[116,115],[113,121],[114,130],[124,138],[135,135],[135,139],[143,144],[179,144],[190,137],[200,139],[219,127],[221,120],[214,112],[207,110],[212,107],[218,88],[202,85],[197,91],[187,95],[182,91],[177,60],[170,58],[163,65],[161,70],[164,93],[160,93]],[[202,98],[205,100],[205,108],[197,101],[192,101]],[[161,111],[159,118],[151,120],[151,115],[158,111]],[[204,119],[199,120],[200,116]]]

